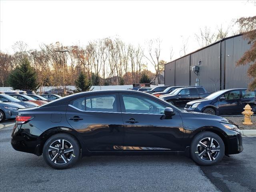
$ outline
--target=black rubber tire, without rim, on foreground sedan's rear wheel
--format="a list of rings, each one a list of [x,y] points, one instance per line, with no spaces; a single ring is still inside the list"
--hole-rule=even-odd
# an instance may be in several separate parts
[[[58,140],[58,139],[67,140],[68,142],[70,142],[72,144],[73,149],[74,149],[74,156],[68,163],[66,163],[64,165],[55,164],[54,162],[52,162],[50,160],[49,155],[48,155],[48,148],[49,148],[50,144],[52,144],[52,142],[54,142],[55,140]],[[43,153],[45,162],[49,166],[51,166],[54,169],[66,169],[66,168],[72,166],[73,164],[75,164],[76,161],[79,159],[80,146],[79,146],[77,140],[73,136],[71,136],[69,134],[65,134],[65,133],[59,133],[59,134],[55,134],[55,135],[51,136],[50,138],[48,138],[48,140],[46,140],[42,153]]]

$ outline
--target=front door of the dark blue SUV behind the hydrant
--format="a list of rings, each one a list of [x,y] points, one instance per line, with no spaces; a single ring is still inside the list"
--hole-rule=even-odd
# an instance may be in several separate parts
[[[239,114],[240,90],[229,91],[221,97],[225,97],[225,100],[219,101],[220,115]]]

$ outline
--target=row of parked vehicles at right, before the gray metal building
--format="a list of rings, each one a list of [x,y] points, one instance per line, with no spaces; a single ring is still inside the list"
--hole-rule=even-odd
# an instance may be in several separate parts
[[[160,90],[166,86],[154,88]],[[149,91],[152,95],[186,111],[212,115],[241,114],[246,104],[256,112],[256,92],[246,88],[226,89],[208,93],[203,86],[168,86],[162,92]]]

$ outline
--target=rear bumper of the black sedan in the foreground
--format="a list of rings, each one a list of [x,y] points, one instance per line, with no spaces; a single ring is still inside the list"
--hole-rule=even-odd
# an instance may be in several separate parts
[[[17,151],[27,152],[40,156],[42,154],[40,135],[42,131],[33,125],[15,124],[12,131],[11,144]]]

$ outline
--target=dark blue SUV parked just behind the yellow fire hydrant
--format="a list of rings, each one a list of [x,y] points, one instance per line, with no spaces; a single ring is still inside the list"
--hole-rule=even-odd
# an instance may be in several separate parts
[[[246,104],[255,108],[255,91],[226,89],[210,94],[204,99],[186,104],[185,110],[212,115],[236,115],[244,111]]]

